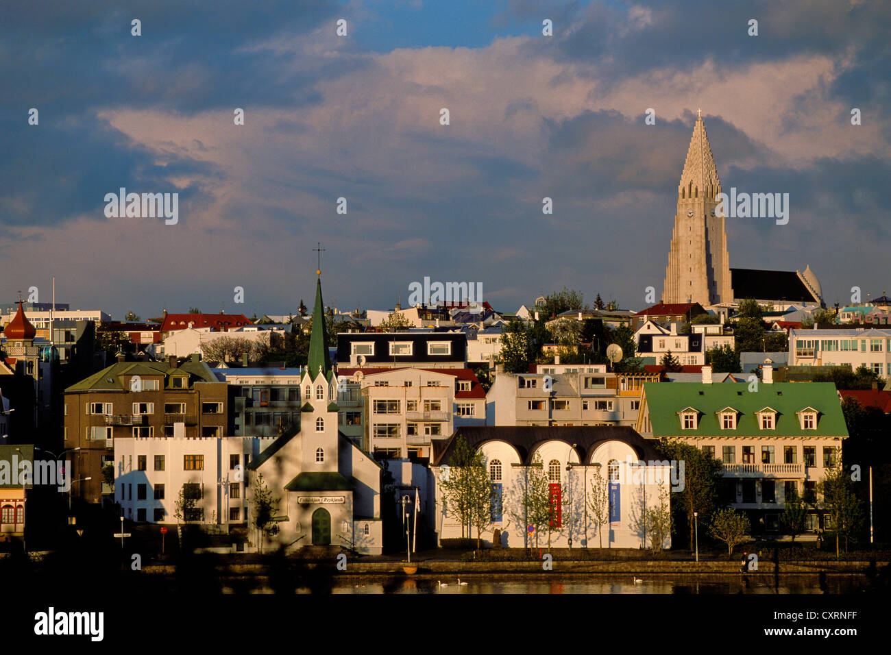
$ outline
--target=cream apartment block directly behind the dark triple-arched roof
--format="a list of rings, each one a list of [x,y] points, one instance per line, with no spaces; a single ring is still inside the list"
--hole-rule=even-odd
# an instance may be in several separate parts
[[[634,425],[644,382],[658,373],[611,373],[606,364],[542,364],[535,373],[496,373],[486,394],[488,425]]]

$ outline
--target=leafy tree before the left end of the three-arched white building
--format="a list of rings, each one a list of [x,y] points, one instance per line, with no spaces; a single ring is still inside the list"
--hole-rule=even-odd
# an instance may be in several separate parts
[[[477,528],[477,548],[482,531],[492,523],[492,482],[481,451],[469,446],[463,437],[455,440],[449,477],[442,482],[443,500],[464,527]]]

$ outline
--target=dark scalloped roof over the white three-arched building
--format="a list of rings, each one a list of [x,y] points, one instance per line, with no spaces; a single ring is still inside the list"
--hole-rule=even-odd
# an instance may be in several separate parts
[[[579,459],[584,462],[588,453],[593,451],[601,441],[623,441],[632,448],[637,456],[646,461],[664,459],[654,444],[642,438],[634,428],[626,425],[592,425],[592,426],[465,426],[455,430],[454,435],[445,442],[433,442],[433,465],[440,466],[450,462],[454,454],[455,442],[464,438],[468,446],[477,449],[487,441],[506,441],[519,452],[523,463],[532,463],[531,453],[545,441],[563,441],[569,446],[576,444]]]

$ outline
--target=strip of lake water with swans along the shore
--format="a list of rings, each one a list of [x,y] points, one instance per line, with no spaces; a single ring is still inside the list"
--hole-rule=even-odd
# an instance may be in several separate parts
[[[634,578],[641,582],[634,583]],[[672,574],[454,574],[438,576],[347,576],[331,580],[332,594],[858,594],[866,578],[856,574],[699,575]],[[243,579],[234,585],[223,581],[224,593],[245,592]],[[271,594],[266,580],[255,578],[253,594]],[[442,583],[440,585],[439,583]],[[327,591],[327,589],[326,589]],[[298,589],[298,593],[310,593]]]

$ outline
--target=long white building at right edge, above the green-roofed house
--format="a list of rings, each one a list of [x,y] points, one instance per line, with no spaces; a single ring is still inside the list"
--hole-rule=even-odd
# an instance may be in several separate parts
[[[865,365],[891,374],[891,330],[790,330],[790,366]]]

